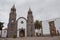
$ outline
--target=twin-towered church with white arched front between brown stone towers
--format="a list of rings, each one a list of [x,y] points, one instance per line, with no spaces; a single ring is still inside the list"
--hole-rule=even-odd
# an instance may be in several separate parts
[[[9,23],[7,29],[7,37],[31,37],[35,36],[35,27],[32,11],[29,8],[27,19],[24,17],[19,17],[16,20],[16,8],[15,5],[11,8],[9,15]]]

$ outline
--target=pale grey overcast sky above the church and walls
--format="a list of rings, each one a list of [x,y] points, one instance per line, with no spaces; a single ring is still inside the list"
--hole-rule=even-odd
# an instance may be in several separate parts
[[[34,20],[48,20],[60,17],[60,0],[0,0],[0,21],[6,27],[9,21],[10,9],[15,4],[17,19],[27,18],[31,8]]]

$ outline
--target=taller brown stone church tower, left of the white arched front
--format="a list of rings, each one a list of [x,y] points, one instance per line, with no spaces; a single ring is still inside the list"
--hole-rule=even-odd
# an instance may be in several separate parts
[[[15,5],[11,8],[9,15],[9,23],[7,29],[7,37],[13,37],[17,35],[17,24],[16,24],[16,8]]]

